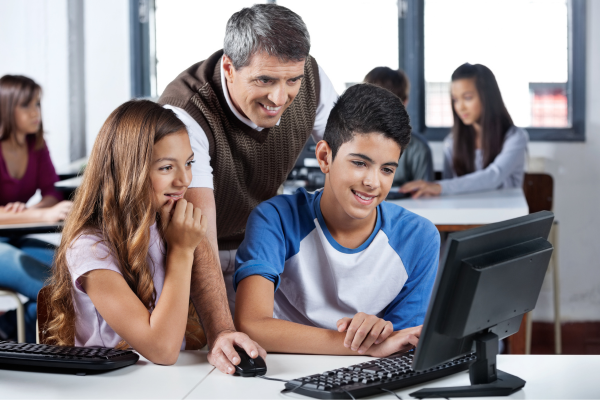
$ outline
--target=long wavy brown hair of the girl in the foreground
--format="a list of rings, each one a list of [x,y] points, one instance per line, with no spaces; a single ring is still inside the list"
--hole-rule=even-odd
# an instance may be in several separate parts
[[[131,290],[148,310],[154,308],[156,290],[148,265],[150,226],[157,221],[150,182],[152,149],[165,136],[182,130],[185,125],[173,111],[147,100],[122,104],[100,129],[56,252],[49,281],[47,343],[75,343],[67,250],[82,234],[102,238]],[[199,327],[195,314],[188,318],[190,326]],[[119,347],[127,344],[122,341]]]

